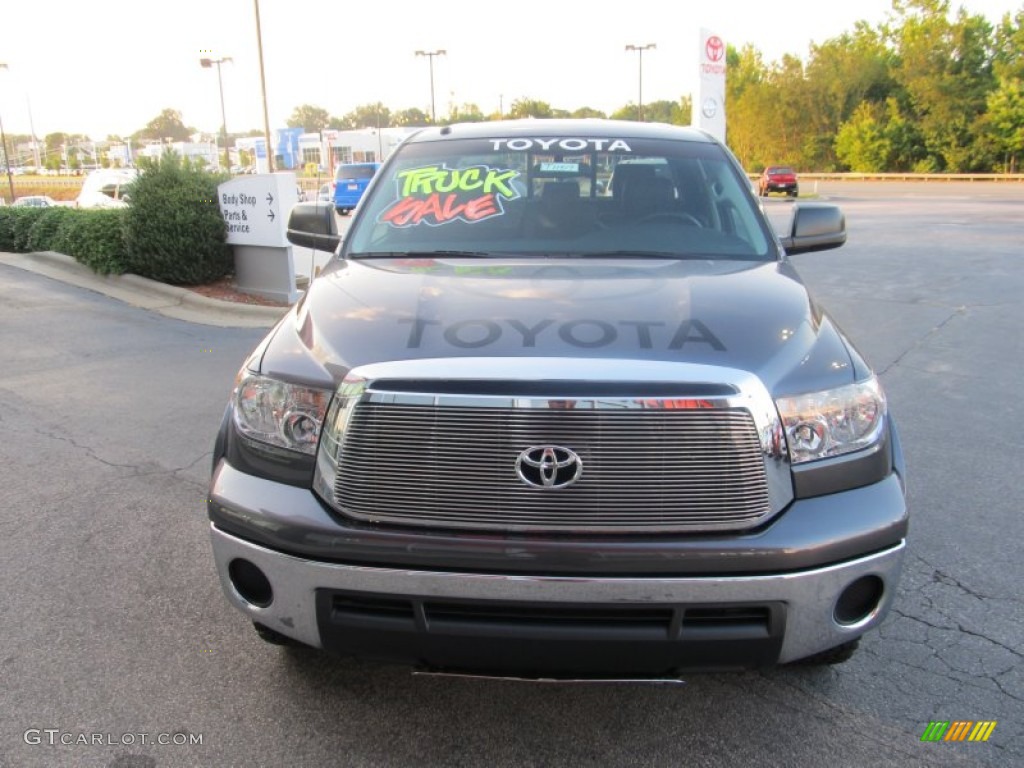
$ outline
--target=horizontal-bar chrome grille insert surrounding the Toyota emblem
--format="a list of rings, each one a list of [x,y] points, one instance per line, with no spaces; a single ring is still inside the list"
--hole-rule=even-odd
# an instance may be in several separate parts
[[[516,459],[538,444],[574,451],[584,466],[579,481],[524,483]],[[355,518],[431,527],[739,530],[772,512],[764,462],[754,419],[741,408],[362,401],[345,429],[334,502]]]

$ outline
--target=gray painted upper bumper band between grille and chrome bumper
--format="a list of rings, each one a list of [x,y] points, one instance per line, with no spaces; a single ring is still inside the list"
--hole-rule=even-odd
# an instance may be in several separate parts
[[[798,487],[814,496],[740,534],[535,536],[375,525],[334,513],[308,486],[258,477],[226,459],[217,462],[207,509],[220,530],[314,562],[509,575],[756,575],[812,570],[903,541],[908,516],[900,466],[841,493],[798,476]],[[848,471],[842,464],[835,469]]]

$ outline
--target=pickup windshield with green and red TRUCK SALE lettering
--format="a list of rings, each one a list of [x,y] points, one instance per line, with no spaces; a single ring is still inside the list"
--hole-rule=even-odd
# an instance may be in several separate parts
[[[750,182],[713,143],[414,142],[380,173],[346,238],[350,258],[775,258]]]

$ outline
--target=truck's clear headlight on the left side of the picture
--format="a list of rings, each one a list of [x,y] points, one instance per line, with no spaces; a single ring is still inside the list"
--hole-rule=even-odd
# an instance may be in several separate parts
[[[246,437],[312,456],[330,399],[328,390],[243,370],[234,386],[234,426]]]

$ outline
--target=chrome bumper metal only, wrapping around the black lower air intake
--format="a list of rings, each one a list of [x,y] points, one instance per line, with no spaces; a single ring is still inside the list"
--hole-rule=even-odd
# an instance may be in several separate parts
[[[836,565],[791,573],[696,578],[600,578],[459,573],[319,562],[260,547],[211,525],[214,559],[228,600],[252,621],[313,647],[323,647],[315,591],[346,590],[379,595],[557,603],[732,603],[785,604],[785,634],[779,663],[793,662],[852,640],[885,617],[895,593],[904,543]],[[245,559],[266,574],[273,600],[266,607],[246,601],[228,575],[229,563]],[[852,582],[879,577],[884,594],[878,608],[853,626],[833,617],[836,600]]]

